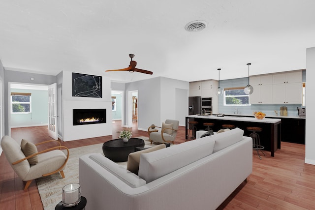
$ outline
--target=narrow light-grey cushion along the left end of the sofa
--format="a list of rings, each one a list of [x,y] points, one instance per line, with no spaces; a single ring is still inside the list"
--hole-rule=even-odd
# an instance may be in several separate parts
[[[115,175],[118,179],[124,181],[132,188],[140,187],[146,184],[146,181],[139,178],[137,175],[132,172],[126,170],[124,167],[118,165],[117,163],[111,161],[107,157],[104,157],[101,154],[92,154],[90,156],[92,160],[94,160],[101,167],[106,169],[108,172]]]

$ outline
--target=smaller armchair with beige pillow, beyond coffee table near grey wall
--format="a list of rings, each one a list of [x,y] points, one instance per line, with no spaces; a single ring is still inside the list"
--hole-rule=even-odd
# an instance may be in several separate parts
[[[170,143],[174,144],[175,137],[177,134],[179,125],[179,120],[165,120],[165,123],[162,123],[162,127],[151,125],[148,128],[149,140],[152,142],[160,142],[160,143]],[[152,132],[155,127],[160,128],[161,130],[155,130],[156,132]]]

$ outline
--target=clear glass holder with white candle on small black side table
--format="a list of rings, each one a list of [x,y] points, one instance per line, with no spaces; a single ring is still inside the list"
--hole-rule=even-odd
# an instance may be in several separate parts
[[[81,201],[81,187],[79,183],[63,186],[63,206],[73,207]]]

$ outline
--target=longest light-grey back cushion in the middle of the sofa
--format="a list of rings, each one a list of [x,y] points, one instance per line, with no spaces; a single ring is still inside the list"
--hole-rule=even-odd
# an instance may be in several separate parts
[[[151,182],[212,154],[215,141],[210,137],[206,136],[163,150],[141,154],[139,177]]]

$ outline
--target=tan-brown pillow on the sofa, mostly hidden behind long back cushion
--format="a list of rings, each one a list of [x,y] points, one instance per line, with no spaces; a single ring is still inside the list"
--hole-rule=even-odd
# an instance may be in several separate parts
[[[160,145],[157,145],[155,147],[147,148],[145,150],[131,152],[128,155],[127,170],[129,170],[132,173],[138,175],[139,163],[140,163],[140,154],[148,153],[148,152],[155,151],[155,150],[160,150],[160,149],[163,149],[163,148],[166,148],[166,146],[164,144],[160,144]]]

